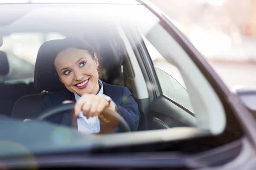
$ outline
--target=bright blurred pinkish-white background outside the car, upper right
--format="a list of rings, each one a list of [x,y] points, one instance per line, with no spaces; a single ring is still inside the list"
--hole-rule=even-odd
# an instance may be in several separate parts
[[[165,12],[229,88],[256,86],[256,0],[149,0]]]

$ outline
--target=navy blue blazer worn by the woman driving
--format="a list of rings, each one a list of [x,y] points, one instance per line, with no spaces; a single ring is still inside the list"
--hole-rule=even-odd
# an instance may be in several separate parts
[[[132,97],[128,88],[107,84],[102,81],[103,94],[110,96],[116,103],[118,113],[125,119],[132,131],[137,130],[140,122],[140,112],[137,102]],[[48,94],[44,98],[42,111],[61,105],[64,100],[76,101],[75,95],[68,90]],[[70,114],[64,113],[49,119],[50,122],[71,126]]]

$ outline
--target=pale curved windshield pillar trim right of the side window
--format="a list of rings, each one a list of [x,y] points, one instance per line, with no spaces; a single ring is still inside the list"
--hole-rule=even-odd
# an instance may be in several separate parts
[[[208,64],[205,61],[205,59],[201,56],[201,54],[198,53],[198,51],[186,39],[186,37],[184,37],[184,35],[170,21],[168,21],[168,19],[166,21],[165,19],[163,19],[163,16],[159,15],[151,8],[148,8],[148,9],[158,19],[155,21],[147,20],[150,23],[138,22],[137,24],[140,24],[140,26],[142,26],[143,28],[145,28],[145,24],[148,24],[148,26],[151,28],[151,30],[148,30],[148,26],[147,26],[146,30],[142,30],[145,32],[143,34],[147,34],[146,38],[148,40],[151,41],[154,38],[157,38],[160,36],[162,39],[161,40],[156,39],[156,40],[165,41],[165,43],[170,43],[169,45],[173,45],[173,47],[175,48],[175,51],[173,52],[170,51],[170,49],[167,49],[167,51],[164,52],[163,51],[164,48],[162,48],[160,45],[165,45],[165,43],[158,44],[156,47],[157,49],[160,48],[158,49],[158,51],[160,52],[160,54],[162,54],[164,58],[166,58],[168,61],[173,60],[177,64],[177,67],[180,67],[180,72],[183,75],[185,85],[188,89],[188,93],[191,98],[193,110],[198,115],[197,116],[198,129],[207,130],[209,134],[213,134],[213,135],[223,133],[227,125],[226,124],[227,116],[226,116],[226,111],[224,109],[225,105],[223,105],[223,102],[219,97],[218,91],[216,91],[215,87],[212,85],[212,82],[209,81],[209,79],[213,78],[212,76],[215,76],[215,74],[211,75],[211,72],[213,71],[212,68],[209,68],[209,71],[208,71],[207,65],[204,65],[205,63]],[[140,26],[137,28],[137,30],[140,30]],[[153,26],[154,26],[154,30],[152,30]],[[156,32],[159,32],[160,34],[156,35],[155,34]],[[171,37],[171,39],[169,39],[169,37]],[[139,39],[137,36],[137,39],[139,40],[139,42],[137,43],[141,46],[141,43],[140,43],[141,38]],[[154,42],[152,45],[155,46],[156,42]],[[182,51],[180,51],[180,49]],[[181,55],[182,57],[174,57],[172,59],[172,57],[169,56],[168,53],[174,54],[176,56]],[[148,59],[148,57],[145,57],[145,58]],[[183,61],[184,59],[185,61]],[[201,63],[201,61],[203,63]],[[182,63],[185,63],[186,65],[182,65]],[[146,67],[149,67],[149,66],[146,65]],[[208,64],[208,67],[209,67],[209,64]],[[150,68],[152,69],[152,67]],[[204,71],[202,71],[202,69]],[[191,73],[191,71],[189,70],[191,70],[193,73]],[[151,72],[154,73],[154,71],[151,71]],[[149,74],[151,73],[149,72]],[[190,77],[191,74],[198,74],[197,80],[192,79],[192,77]],[[206,77],[206,75],[208,77]],[[200,88],[201,90],[199,90],[198,88],[198,83],[201,83],[201,88]],[[155,88],[159,89],[159,85],[155,85]],[[218,88],[220,87],[218,86]],[[207,102],[209,100],[209,96],[212,102]],[[198,105],[198,103],[201,103],[202,105]]]

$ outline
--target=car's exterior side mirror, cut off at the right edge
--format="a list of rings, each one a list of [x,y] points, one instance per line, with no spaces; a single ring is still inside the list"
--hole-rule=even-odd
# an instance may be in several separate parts
[[[233,92],[253,115],[256,116],[256,88],[235,88]]]

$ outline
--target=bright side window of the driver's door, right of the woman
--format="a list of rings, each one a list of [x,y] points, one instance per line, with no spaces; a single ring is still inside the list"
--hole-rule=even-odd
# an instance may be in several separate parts
[[[145,37],[143,37],[143,41],[145,42],[145,46],[153,61],[154,70],[160,83],[162,95],[172,102],[176,102],[180,107],[184,107],[193,112],[189,94],[187,93],[186,86],[179,69],[164,59]]]

